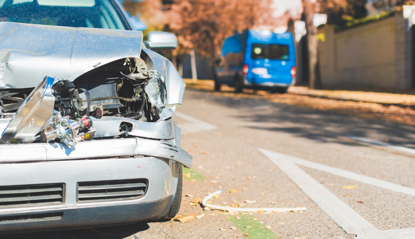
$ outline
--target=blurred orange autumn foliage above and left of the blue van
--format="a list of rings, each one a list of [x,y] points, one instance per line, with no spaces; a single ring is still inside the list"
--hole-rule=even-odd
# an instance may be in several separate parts
[[[125,0],[124,7],[139,13],[150,30],[162,28],[175,33],[180,53],[195,49],[213,62],[228,36],[254,26],[273,29],[276,22],[272,3],[273,0],[174,0],[161,6],[161,0]]]

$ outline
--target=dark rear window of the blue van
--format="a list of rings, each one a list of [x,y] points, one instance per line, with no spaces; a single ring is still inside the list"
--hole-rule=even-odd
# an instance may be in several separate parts
[[[253,43],[252,59],[289,60],[288,45]]]

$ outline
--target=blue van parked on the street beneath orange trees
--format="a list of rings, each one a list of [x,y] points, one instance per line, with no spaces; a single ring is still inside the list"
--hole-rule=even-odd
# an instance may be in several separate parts
[[[215,70],[215,91],[221,84],[243,88],[269,89],[286,93],[295,84],[293,35],[248,30],[228,37]]]

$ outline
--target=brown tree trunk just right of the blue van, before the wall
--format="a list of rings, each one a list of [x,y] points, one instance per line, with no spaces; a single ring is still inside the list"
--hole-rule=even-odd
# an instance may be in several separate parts
[[[315,11],[315,2],[310,0],[303,0],[305,28],[307,29],[308,42],[308,69],[309,69],[309,84],[310,89],[321,89],[322,83],[318,74],[317,64],[317,27],[314,26],[313,18]]]

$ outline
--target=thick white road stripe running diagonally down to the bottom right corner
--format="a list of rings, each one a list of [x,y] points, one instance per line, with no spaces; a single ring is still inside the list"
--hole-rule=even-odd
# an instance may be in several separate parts
[[[378,230],[366,219],[337,198],[327,188],[300,169],[295,163],[303,160],[293,160],[293,157],[278,152],[259,148],[271,162],[286,174],[300,189],[313,200],[321,210],[349,234],[356,234],[357,239],[408,239],[415,238],[415,229]],[[310,166],[310,164],[309,164]],[[313,165],[316,166],[316,165]],[[320,169],[318,169],[320,170]]]

